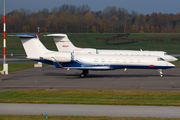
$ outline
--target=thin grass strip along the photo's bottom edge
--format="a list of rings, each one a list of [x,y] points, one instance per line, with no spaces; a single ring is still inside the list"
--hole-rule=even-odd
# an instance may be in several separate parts
[[[180,118],[48,116],[48,120],[180,120]],[[0,115],[0,120],[47,120],[45,115]]]

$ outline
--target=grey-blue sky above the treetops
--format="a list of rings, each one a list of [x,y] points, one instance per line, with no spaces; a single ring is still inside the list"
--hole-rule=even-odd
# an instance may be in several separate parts
[[[131,13],[132,10],[139,14],[156,13],[179,13],[180,0],[6,0],[6,14],[20,8],[29,9],[31,11],[49,9],[51,12],[54,7],[63,4],[82,6],[86,4],[90,6],[91,11],[102,11],[107,6],[116,6],[125,8]],[[4,0],[0,0],[0,14],[4,14]]]

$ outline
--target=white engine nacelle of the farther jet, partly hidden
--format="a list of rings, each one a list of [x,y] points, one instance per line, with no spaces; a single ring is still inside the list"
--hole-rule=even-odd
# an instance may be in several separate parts
[[[97,54],[97,50],[93,48],[76,49],[74,54]]]

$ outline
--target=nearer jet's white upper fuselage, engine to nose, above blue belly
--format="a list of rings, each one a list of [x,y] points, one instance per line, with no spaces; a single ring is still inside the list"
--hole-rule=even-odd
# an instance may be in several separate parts
[[[127,56],[127,55],[81,55],[74,54],[74,61],[93,65],[122,65],[122,66],[174,66],[156,56]]]

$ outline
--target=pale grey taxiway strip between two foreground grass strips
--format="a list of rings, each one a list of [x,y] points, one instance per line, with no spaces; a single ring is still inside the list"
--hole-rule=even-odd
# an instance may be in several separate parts
[[[180,118],[180,107],[0,103],[0,114]]]

